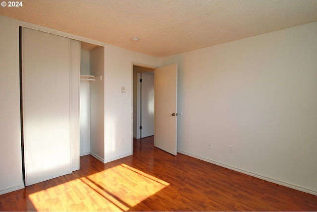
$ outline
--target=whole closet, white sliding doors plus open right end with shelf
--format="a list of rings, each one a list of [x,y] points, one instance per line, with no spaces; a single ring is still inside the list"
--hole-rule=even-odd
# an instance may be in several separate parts
[[[88,51],[89,69],[83,69],[81,74],[80,41],[21,28],[26,186],[79,169],[80,140],[85,141],[80,130],[89,132],[89,148],[83,151],[104,158],[104,47],[94,46]],[[88,117],[80,111],[81,91],[87,91],[85,83],[89,87]]]

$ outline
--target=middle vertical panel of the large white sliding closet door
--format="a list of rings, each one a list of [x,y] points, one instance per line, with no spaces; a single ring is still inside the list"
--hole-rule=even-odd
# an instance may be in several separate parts
[[[41,138],[44,144],[42,151],[43,179],[50,179],[53,175],[55,161],[53,156],[56,153],[56,145],[51,145],[54,140],[56,123],[56,77],[55,77],[55,38],[51,34],[42,33],[40,40],[40,89],[41,89]],[[35,82],[36,83],[36,82]],[[45,148],[47,147],[47,149]],[[37,152],[34,152],[37,153]]]

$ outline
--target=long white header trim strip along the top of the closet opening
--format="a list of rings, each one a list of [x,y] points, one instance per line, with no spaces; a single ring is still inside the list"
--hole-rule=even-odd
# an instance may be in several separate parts
[[[90,38],[85,38],[85,37],[81,37],[81,36],[78,36],[78,35],[73,35],[73,34],[70,34],[70,33],[67,33],[67,32],[62,32],[62,31],[59,31],[59,30],[56,30],[56,29],[51,29],[51,28],[45,27],[45,26],[40,26],[40,25],[36,25],[36,24],[33,24],[33,23],[24,22],[24,21],[19,21],[19,25],[22,26],[22,27],[29,28],[29,29],[34,29],[34,30],[38,30],[38,31],[42,31],[42,32],[47,32],[47,33],[51,33],[51,34],[54,34],[54,35],[58,35],[58,36],[62,36],[62,37],[66,37],[66,38],[70,38],[70,39],[83,41],[83,42],[86,42],[86,43],[91,43],[91,44],[95,44],[95,45],[98,45],[98,46],[105,47],[105,43],[103,43],[101,41],[95,41],[95,40],[92,40]]]

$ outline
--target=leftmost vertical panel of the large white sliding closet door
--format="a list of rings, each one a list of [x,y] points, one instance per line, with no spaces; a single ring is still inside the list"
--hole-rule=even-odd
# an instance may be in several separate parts
[[[34,31],[23,33],[23,119],[24,119],[24,152],[26,185],[34,184],[42,180],[42,152],[41,142],[41,89],[40,64],[33,61],[40,60],[40,35]],[[26,42],[27,41],[27,42]]]

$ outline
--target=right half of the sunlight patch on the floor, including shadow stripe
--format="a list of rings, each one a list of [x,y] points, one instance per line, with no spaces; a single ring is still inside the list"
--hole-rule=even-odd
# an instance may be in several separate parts
[[[90,175],[94,189],[123,211],[129,210],[143,200],[153,196],[169,184],[135,169],[120,164],[102,172]]]

